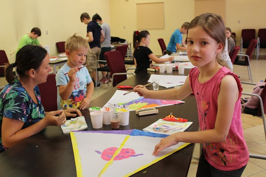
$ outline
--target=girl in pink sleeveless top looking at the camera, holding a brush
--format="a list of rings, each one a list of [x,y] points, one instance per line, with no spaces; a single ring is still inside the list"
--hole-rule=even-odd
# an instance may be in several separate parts
[[[180,89],[151,91],[134,88],[152,99],[183,100],[195,93],[198,132],[177,132],[161,139],[153,155],[178,142],[203,143],[197,176],[241,176],[249,151],[241,122],[240,81],[217,57],[225,45],[224,22],[219,15],[202,14],[188,26],[187,54],[194,66]]]

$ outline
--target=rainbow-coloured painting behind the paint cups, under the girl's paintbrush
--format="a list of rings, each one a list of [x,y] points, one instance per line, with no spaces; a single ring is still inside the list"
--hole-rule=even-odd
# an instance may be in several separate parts
[[[131,111],[185,103],[179,100],[157,100],[157,99],[144,98],[140,97],[135,92],[123,95],[124,93],[127,93],[127,91],[116,90],[116,93],[107,103],[117,104],[117,105],[129,105],[129,109]]]

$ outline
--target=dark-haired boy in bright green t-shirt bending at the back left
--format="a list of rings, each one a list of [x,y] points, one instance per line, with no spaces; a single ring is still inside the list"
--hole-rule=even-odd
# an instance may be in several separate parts
[[[41,34],[42,34],[42,32],[41,32],[40,28],[38,28],[38,27],[32,28],[30,33],[25,34],[20,39],[18,47],[17,47],[17,51],[25,45],[39,45],[42,47],[39,40],[37,39],[38,37],[41,36]]]

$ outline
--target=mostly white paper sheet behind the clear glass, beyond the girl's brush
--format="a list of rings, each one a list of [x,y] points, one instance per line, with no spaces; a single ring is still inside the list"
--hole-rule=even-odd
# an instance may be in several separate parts
[[[175,87],[178,85],[183,85],[185,83],[187,76],[173,76],[173,75],[158,75],[151,74],[148,82],[152,82],[152,79],[160,79],[159,85],[165,88]]]

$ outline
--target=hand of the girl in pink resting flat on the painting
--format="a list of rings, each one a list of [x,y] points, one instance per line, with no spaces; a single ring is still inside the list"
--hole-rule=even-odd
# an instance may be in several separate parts
[[[178,141],[176,141],[176,136],[177,136],[177,133],[161,139],[160,143],[158,143],[155,146],[152,155],[157,156],[159,154],[159,152],[164,150],[165,148],[176,145],[177,143],[179,143]]]

